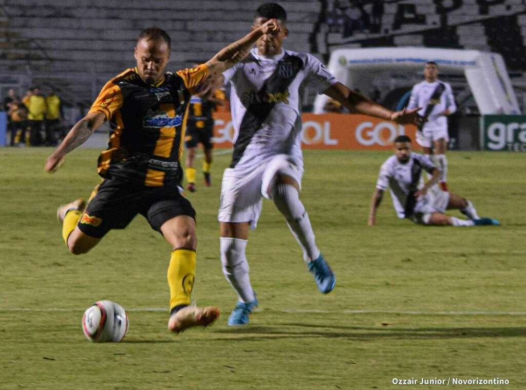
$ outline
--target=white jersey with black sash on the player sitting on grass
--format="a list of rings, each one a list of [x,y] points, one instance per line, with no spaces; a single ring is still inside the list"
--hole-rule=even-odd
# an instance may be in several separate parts
[[[409,195],[424,185],[422,169],[432,173],[434,168],[429,157],[418,153],[411,153],[406,164],[400,163],[397,156],[391,156],[380,168],[376,188],[384,191],[389,188],[398,217],[405,218]]]

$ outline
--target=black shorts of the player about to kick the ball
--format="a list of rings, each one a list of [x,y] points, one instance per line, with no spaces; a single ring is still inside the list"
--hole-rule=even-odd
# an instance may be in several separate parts
[[[101,238],[111,229],[124,229],[137,214],[159,233],[168,219],[187,215],[195,220],[196,216],[176,185],[146,187],[106,179],[80,217],[78,228],[88,236]]]

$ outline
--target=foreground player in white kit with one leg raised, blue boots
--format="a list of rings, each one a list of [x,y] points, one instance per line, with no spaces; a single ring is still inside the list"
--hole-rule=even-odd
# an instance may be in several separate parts
[[[238,294],[228,325],[244,325],[257,306],[245,255],[249,228],[255,228],[262,196],[272,199],[303,251],[319,290],[327,294],[336,278],[316,246],[309,216],[299,199],[303,158],[299,87],[308,83],[352,112],[399,123],[417,120],[417,109],[392,112],[338,83],[315,57],[282,48],[287,15],[276,3],[256,10],[254,26],[278,19],[279,31],[266,34],[239,64],[216,83],[232,85],[230,105],[235,127],[234,155],[225,169],[219,206],[222,271]]]

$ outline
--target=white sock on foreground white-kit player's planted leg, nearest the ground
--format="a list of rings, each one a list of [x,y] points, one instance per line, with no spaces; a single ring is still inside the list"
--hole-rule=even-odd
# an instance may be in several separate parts
[[[220,237],[221,265],[227,281],[237,292],[239,301],[248,303],[256,296],[250,285],[248,261],[245,255],[247,240]]]

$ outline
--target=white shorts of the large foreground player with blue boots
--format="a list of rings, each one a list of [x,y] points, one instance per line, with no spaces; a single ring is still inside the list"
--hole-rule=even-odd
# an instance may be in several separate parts
[[[255,229],[263,206],[262,197],[271,199],[277,173],[292,177],[301,188],[303,162],[286,154],[269,157],[250,167],[225,169],[219,222],[249,222],[250,228]]]

